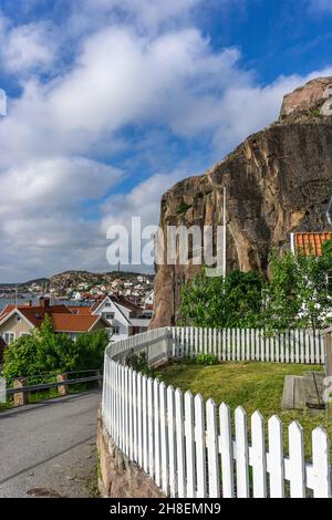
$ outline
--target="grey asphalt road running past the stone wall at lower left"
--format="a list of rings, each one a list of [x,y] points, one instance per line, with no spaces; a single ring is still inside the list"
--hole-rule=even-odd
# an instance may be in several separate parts
[[[91,497],[96,477],[92,391],[0,413],[0,497]]]

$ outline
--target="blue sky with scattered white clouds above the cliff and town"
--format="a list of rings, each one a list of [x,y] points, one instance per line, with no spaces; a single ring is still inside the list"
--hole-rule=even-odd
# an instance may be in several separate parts
[[[0,281],[106,271],[106,230],[332,75],[332,0],[0,0]]]

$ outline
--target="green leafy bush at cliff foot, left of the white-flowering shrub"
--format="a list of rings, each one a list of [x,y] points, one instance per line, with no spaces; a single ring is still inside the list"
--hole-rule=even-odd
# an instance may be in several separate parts
[[[197,277],[181,291],[183,321],[210,327],[261,326],[264,284],[263,277],[253,271]]]

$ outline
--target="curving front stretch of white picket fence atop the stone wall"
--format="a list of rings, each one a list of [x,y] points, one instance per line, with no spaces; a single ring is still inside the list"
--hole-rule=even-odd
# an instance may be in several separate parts
[[[122,364],[121,350],[127,355],[166,349],[169,355],[179,345],[177,334],[162,329],[134,336],[131,346],[123,341],[121,347],[107,347],[103,422],[117,447],[169,497],[331,497],[330,446],[323,428],[312,431],[308,462],[298,423],[288,428],[284,454],[277,416],[268,420],[267,430],[259,412],[248,425],[242,407],[232,419],[226,404],[205,403],[200,395],[183,394]],[[185,352],[181,347],[180,355]]]

